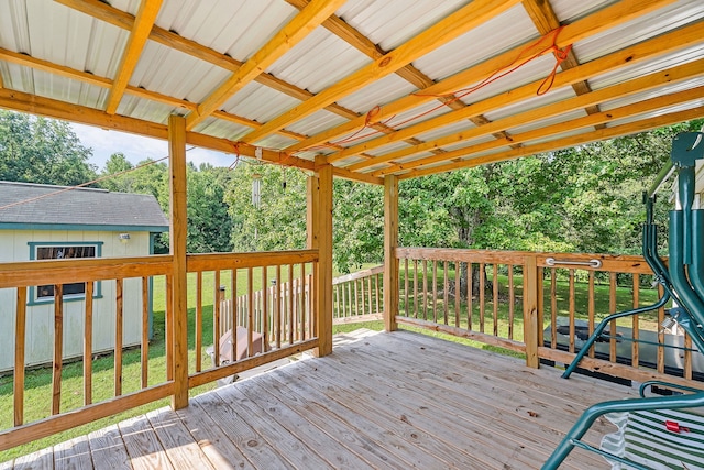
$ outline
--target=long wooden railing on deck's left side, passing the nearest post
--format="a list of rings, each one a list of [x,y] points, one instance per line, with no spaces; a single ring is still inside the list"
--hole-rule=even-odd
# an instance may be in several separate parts
[[[186,364],[188,387],[317,347],[316,289],[311,287],[315,286],[317,262],[317,250],[188,255],[188,289],[193,294],[187,328],[188,340],[193,345],[188,351],[189,363]],[[0,264],[2,315],[13,317],[16,338],[15,345],[3,347],[3,353],[14,356],[9,370],[13,383],[13,406],[0,411],[0,450],[176,393],[178,384],[175,383],[174,371],[183,364],[175,363],[178,356],[174,340],[176,319],[170,305],[172,269],[173,258],[169,255]],[[276,285],[268,287],[271,296],[264,296],[256,303],[253,293],[258,289],[257,283],[268,285],[272,281]],[[86,283],[85,295],[63,295],[62,286],[69,283]],[[221,310],[218,300],[222,283],[227,283],[230,298],[233,293],[235,297],[244,293],[251,299],[238,309],[237,316],[232,309]],[[290,298],[287,289],[292,285],[304,284],[307,294],[299,297],[301,303],[306,298],[306,307],[292,309],[290,304],[283,302]],[[41,305],[34,305],[36,299],[30,297],[36,297],[37,288],[46,285],[54,286],[54,298],[44,298]],[[6,302],[8,297],[12,302]],[[150,318],[151,299],[154,299],[153,318]],[[36,328],[40,311],[52,330],[46,335],[42,329],[37,337],[31,331]],[[290,313],[294,313],[293,317]],[[257,316],[262,319],[258,323]],[[237,335],[227,343],[232,348],[230,351],[224,351],[219,341],[222,332],[233,326],[235,331],[237,326],[244,328],[241,341],[245,348],[239,356]],[[110,331],[108,346],[102,338],[106,329]],[[136,340],[125,343],[124,338],[134,337],[135,331]],[[69,336],[78,336],[80,343],[68,347],[64,338]],[[102,339],[98,341],[98,337]],[[52,376],[46,396],[38,396],[35,390],[25,385],[28,367],[37,365],[35,359],[30,359],[33,345],[28,343],[26,338],[52,345],[52,353],[43,360],[48,362],[48,367],[33,372]],[[156,351],[155,343],[163,349]],[[132,348],[124,349],[125,346]],[[212,359],[208,348],[212,348]],[[229,360],[222,361],[221,354],[226,352],[230,353]],[[108,375],[102,370],[105,363],[96,367],[96,354],[107,356],[107,359],[98,360],[111,363]],[[68,369],[70,374],[65,373]],[[76,373],[76,370],[82,370],[82,373]],[[139,380],[127,381],[128,373]],[[77,381],[80,382],[78,387]],[[98,381],[112,381],[110,391],[97,387]],[[101,392],[96,393],[97,390]],[[30,401],[47,405],[45,409],[25,413]]]

